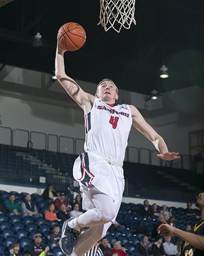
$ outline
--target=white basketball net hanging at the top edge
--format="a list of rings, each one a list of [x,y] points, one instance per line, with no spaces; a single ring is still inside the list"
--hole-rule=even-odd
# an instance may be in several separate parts
[[[134,13],[135,0],[100,0],[100,21],[97,25],[101,24],[105,32],[113,28],[120,33],[122,27],[128,30],[132,22],[136,25]]]

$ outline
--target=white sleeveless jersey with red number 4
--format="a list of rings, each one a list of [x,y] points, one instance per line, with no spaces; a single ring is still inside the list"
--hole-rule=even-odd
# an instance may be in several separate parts
[[[109,106],[95,98],[90,113],[85,115],[85,152],[94,152],[124,161],[125,148],[132,125],[129,105]]]

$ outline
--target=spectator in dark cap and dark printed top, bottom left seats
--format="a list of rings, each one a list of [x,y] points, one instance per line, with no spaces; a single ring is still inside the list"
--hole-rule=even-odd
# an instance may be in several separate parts
[[[42,245],[42,235],[40,233],[35,234],[34,242],[28,245],[27,253],[31,256],[43,256],[41,253],[44,252],[44,255],[49,251],[49,247]]]

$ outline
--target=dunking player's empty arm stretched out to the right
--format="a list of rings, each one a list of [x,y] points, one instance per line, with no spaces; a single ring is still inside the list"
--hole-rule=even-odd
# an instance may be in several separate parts
[[[165,144],[163,138],[158,133],[156,133],[156,131],[150,125],[148,125],[137,108],[135,108],[133,105],[129,106],[133,119],[133,126],[154,144],[156,150],[160,152],[160,154],[157,156],[163,160],[173,160],[180,158],[178,152],[168,151],[167,145]]]

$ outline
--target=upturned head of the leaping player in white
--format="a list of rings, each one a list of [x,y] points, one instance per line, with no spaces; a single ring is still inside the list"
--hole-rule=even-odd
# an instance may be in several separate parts
[[[118,100],[117,88],[111,81],[104,81],[99,85],[99,89],[96,93],[102,101],[115,101]]]

